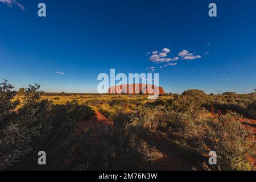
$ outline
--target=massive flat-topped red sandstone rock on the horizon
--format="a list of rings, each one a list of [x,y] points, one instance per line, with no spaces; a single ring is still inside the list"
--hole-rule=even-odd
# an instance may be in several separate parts
[[[108,93],[112,94],[164,94],[161,86],[148,84],[122,84],[111,86]]]

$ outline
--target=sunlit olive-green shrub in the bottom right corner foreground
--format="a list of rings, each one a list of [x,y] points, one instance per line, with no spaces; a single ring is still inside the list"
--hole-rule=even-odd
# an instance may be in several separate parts
[[[201,149],[216,151],[218,166],[222,170],[250,170],[247,154],[255,152],[255,142],[247,139],[250,135],[240,124],[241,116],[229,112],[218,119],[205,123]],[[252,154],[254,155],[254,154]]]

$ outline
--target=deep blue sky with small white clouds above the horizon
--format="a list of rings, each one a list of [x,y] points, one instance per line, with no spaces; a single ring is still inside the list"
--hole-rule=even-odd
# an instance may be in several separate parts
[[[0,78],[16,89],[37,82],[47,92],[96,93],[98,74],[115,68],[159,73],[166,92],[250,93],[255,50],[254,0],[0,0]]]

